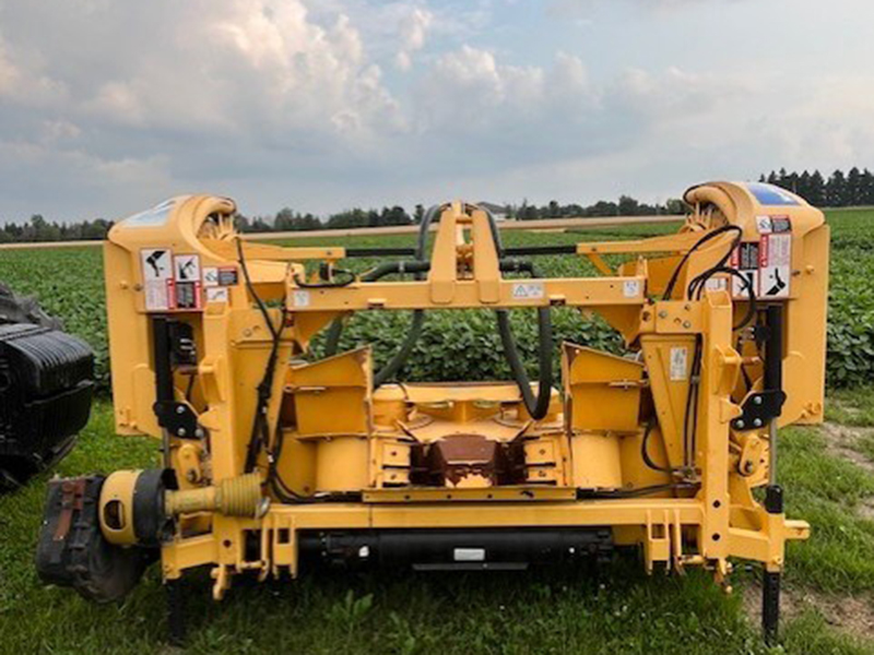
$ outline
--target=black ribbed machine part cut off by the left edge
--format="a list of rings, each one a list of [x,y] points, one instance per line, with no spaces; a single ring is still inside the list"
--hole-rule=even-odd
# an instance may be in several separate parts
[[[93,377],[94,356],[81,340],[50,326],[0,325],[0,488],[72,448],[88,420]]]

